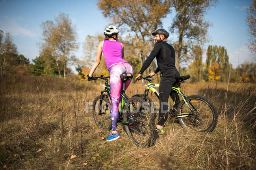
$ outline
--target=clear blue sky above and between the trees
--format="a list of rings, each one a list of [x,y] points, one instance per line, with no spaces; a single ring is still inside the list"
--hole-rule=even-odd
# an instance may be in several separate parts
[[[252,58],[248,48],[246,8],[253,0],[219,0],[216,7],[211,7],[206,15],[213,26],[208,32],[209,44],[224,46],[233,67]],[[30,61],[39,56],[37,42],[41,41],[41,24],[54,20],[59,13],[69,14],[75,25],[80,47],[75,54],[82,59],[82,43],[87,35],[103,32],[111,21],[104,18],[98,10],[96,0],[0,0],[0,30],[9,32],[20,54]],[[171,25],[171,14],[163,19],[163,28]],[[205,54],[204,54],[205,58]],[[255,58],[255,56],[254,56]],[[250,60],[249,60],[250,61]]]

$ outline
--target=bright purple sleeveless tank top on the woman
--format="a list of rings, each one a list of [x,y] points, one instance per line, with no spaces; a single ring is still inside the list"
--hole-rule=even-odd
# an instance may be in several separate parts
[[[104,54],[108,69],[112,64],[119,63],[122,61],[126,62],[124,59],[122,59],[121,42],[115,40],[105,40],[102,45],[102,52]]]

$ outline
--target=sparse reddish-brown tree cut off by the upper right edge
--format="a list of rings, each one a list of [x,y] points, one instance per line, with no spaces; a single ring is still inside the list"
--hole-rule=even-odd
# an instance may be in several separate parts
[[[250,36],[250,45],[248,46],[250,51],[256,55],[256,0],[253,1],[252,5],[247,8],[247,26],[248,33]],[[255,59],[254,59],[255,60]]]

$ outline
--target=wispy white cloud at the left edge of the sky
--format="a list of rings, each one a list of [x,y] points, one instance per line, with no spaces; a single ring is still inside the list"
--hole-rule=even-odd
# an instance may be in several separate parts
[[[35,37],[37,34],[33,33],[29,29],[22,27],[19,24],[20,18],[10,18],[9,16],[0,17],[0,29],[4,33],[10,33],[12,36],[26,36],[26,37]]]

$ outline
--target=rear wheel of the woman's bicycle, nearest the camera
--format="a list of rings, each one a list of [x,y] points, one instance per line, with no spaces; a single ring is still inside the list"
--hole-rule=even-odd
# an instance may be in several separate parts
[[[130,103],[130,108],[128,108],[130,114],[127,110],[124,114],[124,121],[130,123],[123,124],[124,130],[135,145],[143,148],[148,147],[155,130],[154,113],[150,111],[148,104],[140,97],[132,97],[128,102]]]

